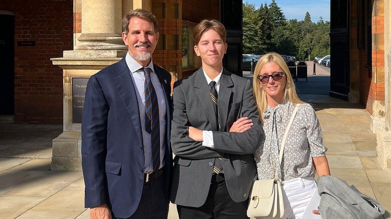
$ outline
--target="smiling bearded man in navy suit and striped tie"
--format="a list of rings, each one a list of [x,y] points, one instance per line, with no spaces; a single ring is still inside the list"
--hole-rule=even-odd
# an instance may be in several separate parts
[[[85,207],[91,218],[167,218],[171,75],[152,63],[159,38],[155,15],[132,10],[122,27],[126,56],[87,83]]]

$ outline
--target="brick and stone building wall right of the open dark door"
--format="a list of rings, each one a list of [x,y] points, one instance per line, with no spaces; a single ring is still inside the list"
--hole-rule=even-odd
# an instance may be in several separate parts
[[[390,169],[391,15],[386,11],[390,11],[391,4],[388,0],[331,0],[330,6],[331,22],[346,21],[346,32],[342,34],[346,33],[348,48],[343,53],[347,61],[342,58],[338,65],[338,58],[333,57],[333,63],[335,60],[337,64],[331,74],[347,72],[344,78],[348,78],[348,101],[359,103],[371,114],[369,125],[377,136],[377,159],[382,168]],[[334,25],[333,31],[331,24],[330,43],[334,51],[343,47],[340,41],[334,41],[333,45],[332,35],[338,27]],[[332,84],[331,80],[331,89]]]

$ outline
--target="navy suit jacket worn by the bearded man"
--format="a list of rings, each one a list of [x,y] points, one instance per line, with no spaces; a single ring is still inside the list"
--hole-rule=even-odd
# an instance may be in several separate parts
[[[154,65],[166,101],[164,176],[168,189],[172,152],[171,74]],[[141,112],[143,113],[143,112]],[[116,217],[137,209],[144,180],[144,151],[136,88],[125,58],[92,75],[82,119],[82,168],[85,207],[107,204]],[[168,194],[168,191],[166,190]],[[147,206],[148,207],[148,206]]]

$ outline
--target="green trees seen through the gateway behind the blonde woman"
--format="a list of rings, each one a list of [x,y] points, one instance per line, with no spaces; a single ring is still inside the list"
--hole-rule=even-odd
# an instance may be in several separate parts
[[[304,20],[286,20],[276,0],[257,9],[243,4],[243,52],[263,54],[276,51],[299,60],[330,53],[330,22],[319,17],[311,21],[307,11]]]

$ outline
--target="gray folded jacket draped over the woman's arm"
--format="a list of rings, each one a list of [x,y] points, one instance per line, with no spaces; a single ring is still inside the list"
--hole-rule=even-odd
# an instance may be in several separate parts
[[[318,178],[319,211],[322,219],[383,218],[384,207],[375,199],[359,192],[354,185],[331,175]]]

